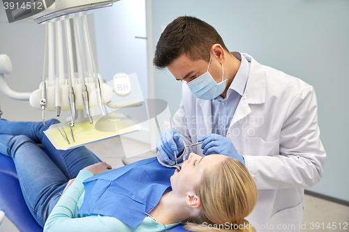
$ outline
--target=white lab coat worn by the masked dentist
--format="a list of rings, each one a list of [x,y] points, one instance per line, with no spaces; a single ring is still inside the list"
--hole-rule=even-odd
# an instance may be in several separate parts
[[[251,70],[227,137],[244,156],[258,188],[258,203],[246,219],[257,231],[301,231],[304,187],[321,180],[326,156],[315,92],[301,79],[243,55]],[[211,134],[211,101],[195,98],[185,83],[182,90],[173,121],[188,145]],[[200,146],[192,148],[202,155]]]

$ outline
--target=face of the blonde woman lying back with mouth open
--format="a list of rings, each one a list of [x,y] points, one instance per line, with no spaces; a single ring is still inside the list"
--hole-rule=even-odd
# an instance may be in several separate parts
[[[201,180],[201,176],[206,171],[213,171],[216,165],[224,162],[227,159],[224,155],[207,155],[201,157],[195,153],[189,155],[188,160],[186,160],[181,171],[174,171],[173,176],[171,176],[171,186],[172,190],[176,194],[186,195],[188,192],[193,191],[193,187],[198,185]]]

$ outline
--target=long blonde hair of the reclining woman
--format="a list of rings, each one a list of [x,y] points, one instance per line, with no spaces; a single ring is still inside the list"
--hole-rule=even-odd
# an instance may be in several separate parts
[[[200,215],[188,219],[189,231],[256,231],[244,219],[258,200],[257,187],[244,164],[233,158],[205,172],[194,188],[201,201]]]

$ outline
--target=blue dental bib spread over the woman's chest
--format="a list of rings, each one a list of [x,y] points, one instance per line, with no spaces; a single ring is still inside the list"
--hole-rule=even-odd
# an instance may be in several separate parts
[[[140,160],[84,181],[84,201],[76,213],[115,217],[135,228],[171,189],[174,168],[156,157]]]

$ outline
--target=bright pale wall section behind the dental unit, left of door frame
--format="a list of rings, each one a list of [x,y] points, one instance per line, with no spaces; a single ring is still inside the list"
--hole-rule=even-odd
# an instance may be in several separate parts
[[[142,98],[148,98],[147,75],[147,32],[145,22],[145,1],[117,1],[110,8],[94,13],[96,25],[96,47],[99,73],[103,79],[112,81],[117,72],[136,73]],[[137,81],[137,79],[135,79]],[[131,94],[115,101],[138,100],[127,99],[135,94],[137,88],[132,85]],[[114,95],[117,97],[116,95]],[[138,140],[149,143],[149,123],[142,123]],[[132,134],[135,137],[135,134]]]

